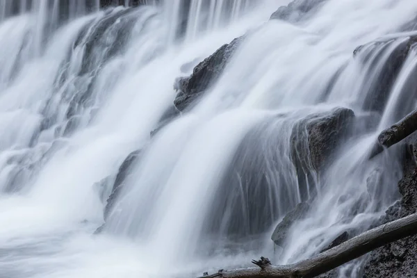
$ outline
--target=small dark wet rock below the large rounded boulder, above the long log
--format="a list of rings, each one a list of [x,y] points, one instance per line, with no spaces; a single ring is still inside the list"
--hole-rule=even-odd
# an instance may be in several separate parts
[[[285,215],[284,219],[279,222],[271,236],[271,239],[276,245],[284,247],[285,240],[288,236],[288,231],[291,229],[295,222],[306,217],[306,213],[309,211],[309,208],[309,203],[302,202],[297,204],[293,211],[290,211]]]

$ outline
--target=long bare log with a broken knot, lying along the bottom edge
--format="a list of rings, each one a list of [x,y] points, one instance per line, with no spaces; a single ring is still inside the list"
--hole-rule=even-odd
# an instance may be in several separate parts
[[[378,247],[415,234],[417,234],[417,213],[366,231],[359,236],[345,241],[341,245],[298,263],[291,265],[272,265],[267,258],[261,257],[260,261],[252,261],[252,263],[257,265],[256,267],[219,270],[218,273],[213,275],[204,273],[204,276],[199,278],[315,277],[353,259],[357,259]]]

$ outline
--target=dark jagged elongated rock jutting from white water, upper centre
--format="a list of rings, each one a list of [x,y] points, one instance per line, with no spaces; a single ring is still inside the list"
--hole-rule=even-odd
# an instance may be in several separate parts
[[[174,89],[179,93],[174,105],[179,111],[184,111],[190,104],[199,99],[206,89],[212,85],[222,74],[234,51],[242,42],[243,37],[236,38],[229,44],[224,44],[211,56],[195,66],[193,74],[180,77],[175,81]]]

